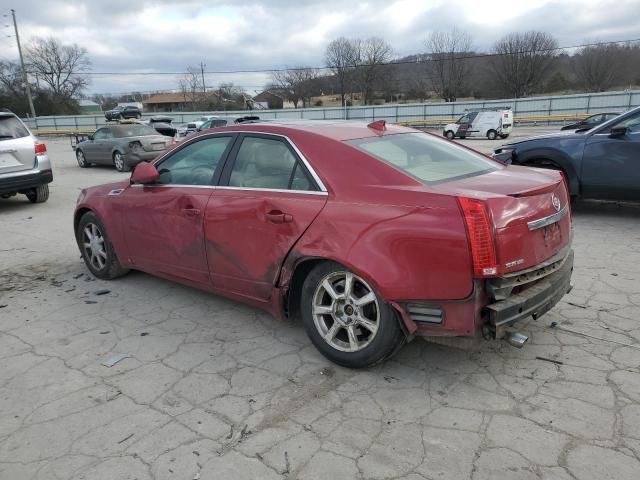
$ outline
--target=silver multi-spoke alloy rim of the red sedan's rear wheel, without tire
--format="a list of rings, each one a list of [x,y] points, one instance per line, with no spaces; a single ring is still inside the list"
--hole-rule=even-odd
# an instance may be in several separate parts
[[[342,352],[367,347],[378,333],[380,306],[373,289],[351,272],[333,272],[313,295],[313,322],[325,342]]]

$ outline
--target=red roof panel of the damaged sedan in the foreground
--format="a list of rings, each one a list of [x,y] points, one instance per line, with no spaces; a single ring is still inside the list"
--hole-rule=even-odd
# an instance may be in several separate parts
[[[288,135],[311,133],[332,140],[345,141],[357,138],[380,137],[399,133],[416,133],[416,130],[387,123],[384,130],[369,127],[369,123],[353,120],[271,120],[268,122],[238,123],[216,128],[217,131],[264,132]]]

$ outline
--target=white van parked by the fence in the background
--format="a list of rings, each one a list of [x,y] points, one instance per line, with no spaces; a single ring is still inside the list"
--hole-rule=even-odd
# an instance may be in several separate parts
[[[476,110],[465,113],[456,123],[444,126],[442,134],[448,139],[486,137],[495,140],[507,138],[513,130],[513,112],[510,109]]]

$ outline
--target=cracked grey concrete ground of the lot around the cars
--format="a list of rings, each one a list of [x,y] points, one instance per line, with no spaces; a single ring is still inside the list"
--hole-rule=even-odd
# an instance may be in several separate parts
[[[49,202],[0,200],[1,479],[640,478],[640,207],[578,205],[575,289],[522,350],[416,340],[354,371],[298,323],[91,277],[75,199],[126,175],[48,145]]]

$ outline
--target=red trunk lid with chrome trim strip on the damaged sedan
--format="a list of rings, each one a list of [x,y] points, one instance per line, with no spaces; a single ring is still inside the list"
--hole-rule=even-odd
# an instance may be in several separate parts
[[[511,166],[436,189],[484,200],[498,275],[535,267],[571,243],[569,197],[560,172]]]

